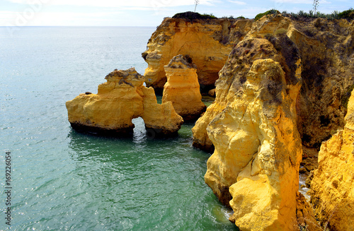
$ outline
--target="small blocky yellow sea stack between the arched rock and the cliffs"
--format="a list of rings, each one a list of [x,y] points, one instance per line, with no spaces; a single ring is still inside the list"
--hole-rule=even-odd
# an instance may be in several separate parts
[[[173,57],[165,67],[167,82],[164,85],[162,102],[171,101],[177,114],[184,121],[195,120],[205,112],[198,83],[197,68],[190,57]]]

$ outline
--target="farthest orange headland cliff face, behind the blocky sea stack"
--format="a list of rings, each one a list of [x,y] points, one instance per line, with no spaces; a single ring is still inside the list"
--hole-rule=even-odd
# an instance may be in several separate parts
[[[164,66],[178,54],[188,54],[197,66],[200,85],[205,90],[214,88],[222,69],[231,52],[235,40],[244,37],[241,32],[232,32],[233,28],[247,28],[251,20],[207,19],[187,20],[183,18],[165,18],[152,34],[147,51],[142,57],[147,61],[145,70],[147,86],[152,86],[157,93],[162,92],[166,83]]]

